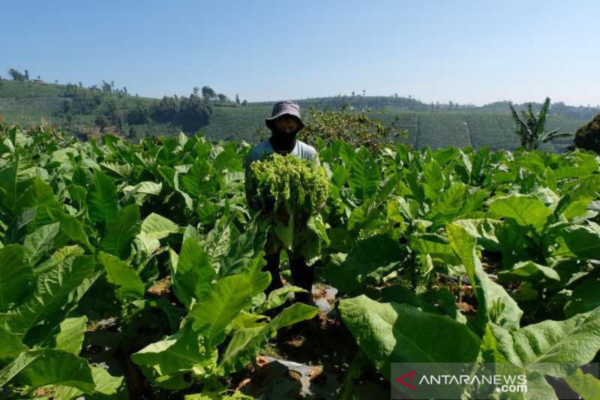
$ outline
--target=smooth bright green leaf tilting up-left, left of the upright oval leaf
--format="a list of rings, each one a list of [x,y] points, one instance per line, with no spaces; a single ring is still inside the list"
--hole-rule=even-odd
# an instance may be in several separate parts
[[[132,266],[103,251],[98,252],[98,262],[106,269],[107,281],[116,286],[119,300],[128,302],[144,295],[142,278]]]

